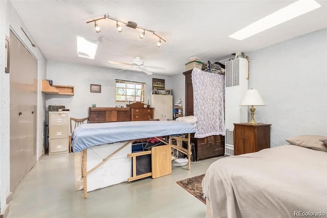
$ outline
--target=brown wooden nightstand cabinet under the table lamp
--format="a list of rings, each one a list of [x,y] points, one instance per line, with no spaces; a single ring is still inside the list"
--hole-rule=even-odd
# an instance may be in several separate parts
[[[234,155],[270,148],[271,124],[234,124]]]

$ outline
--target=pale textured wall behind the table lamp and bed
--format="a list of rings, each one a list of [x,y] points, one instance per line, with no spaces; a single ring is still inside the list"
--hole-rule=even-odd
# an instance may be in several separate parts
[[[255,120],[271,126],[271,147],[301,134],[327,135],[327,29],[247,53],[249,88],[266,106]]]

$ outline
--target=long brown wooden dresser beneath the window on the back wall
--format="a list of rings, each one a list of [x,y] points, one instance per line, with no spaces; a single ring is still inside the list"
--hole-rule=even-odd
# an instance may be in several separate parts
[[[88,109],[88,123],[140,121],[153,119],[153,108],[93,108]]]

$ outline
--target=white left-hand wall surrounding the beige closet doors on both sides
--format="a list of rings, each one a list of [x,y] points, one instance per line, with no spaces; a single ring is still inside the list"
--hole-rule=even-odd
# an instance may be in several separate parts
[[[12,30],[20,41],[27,47],[27,49],[38,60],[38,79],[42,80],[46,75],[46,59],[38,47],[32,47],[27,37],[20,30],[22,27],[27,34],[29,31],[24,25],[24,22],[20,19],[19,15],[13,8],[9,1],[0,1],[0,211],[3,211],[6,205],[6,197],[10,191],[10,74],[6,74],[5,71],[5,50],[4,42],[5,36],[9,37],[9,30]],[[31,35],[30,38],[33,40]],[[34,44],[37,43],[34,41]],[[45,117],[45,95],[41,93],[40,83],[37,93],[37,144],[36,152],[37,157],[42,154],[42,133],[44,117]]]

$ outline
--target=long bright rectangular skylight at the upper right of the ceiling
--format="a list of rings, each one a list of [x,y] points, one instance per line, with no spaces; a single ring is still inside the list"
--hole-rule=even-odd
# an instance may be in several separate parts
[[[249,26],[239,30],[236,33],[231,34],[229,37],[233,39],[243,40],[257,33],[268,30],[269,28],[275,27],[283,22],[291,20],[302,14],[313,11],[321,7],[314,0],[299,0],[292,3],[285,8],[279,9],[278,11],[269,14],[268,16],[251,23]]]

